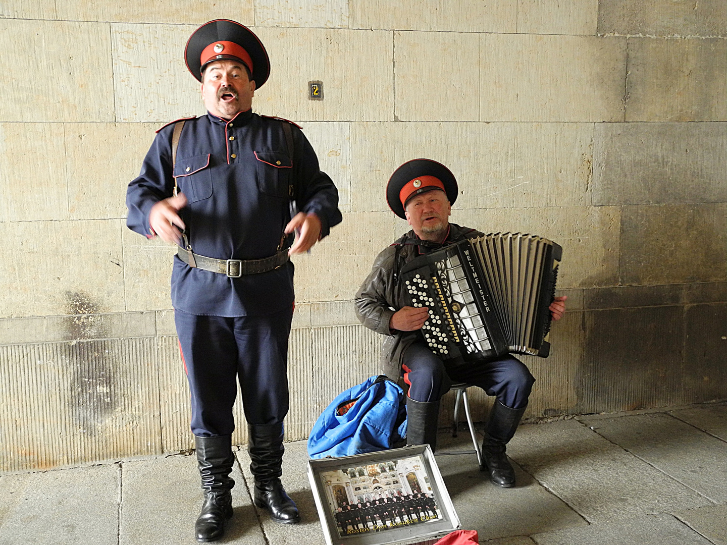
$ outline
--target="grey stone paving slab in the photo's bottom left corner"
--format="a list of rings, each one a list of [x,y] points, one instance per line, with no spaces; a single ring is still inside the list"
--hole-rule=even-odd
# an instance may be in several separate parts
[[[119,466],[0,477],[0,545],[117,545]]]

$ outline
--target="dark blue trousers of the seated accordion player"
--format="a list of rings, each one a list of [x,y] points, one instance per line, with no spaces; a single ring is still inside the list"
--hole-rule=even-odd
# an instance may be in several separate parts
[[[506,407],[522,408],[528,404],[535,382],[525,364],[510,354],[487,363],[446,369],[420,341],[403,353],[402,371],[404,382],[409,384],[409,397],[425,403],[440,399],[454,382],[467,382],[496,396]]]

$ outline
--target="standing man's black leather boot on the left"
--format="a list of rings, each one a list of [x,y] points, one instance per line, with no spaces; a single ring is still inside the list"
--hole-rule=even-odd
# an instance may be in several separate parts
[[[230,478],[235,455],[232,437],[195,437],[197,467],[202,478],[204,504],[194,525],[197,541],[215,541],[225,533],[225,520],[232,517],[232,490],[235,481]]]

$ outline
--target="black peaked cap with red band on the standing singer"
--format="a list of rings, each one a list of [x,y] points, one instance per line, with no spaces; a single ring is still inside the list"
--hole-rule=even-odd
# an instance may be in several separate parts
[[[225,44],[220,44],[220,47],[214,48],[217,42],[231,42],[234,45],[227,47]],[[255,81],[255,89],[260,89],[262,84],[268,81],[270,59],[268,58],[268,52],[265,51],[265,46],[249,28],[228,19],[216,19],[204,23],[192,33],[187,41],[187,47],[185,47],[184,51],[185,62],[192,76],[197,78],[198,81],[202,81],[203,61],[200,57],[202,52],[211,45],[213,46],[210,49],[212,53],[207,55],[209,58],[204,60],[204,64],[213,60],[228,59],[239,60],[248,65],[248,60],[243,58],[244,55],[235,55],[238,53],[237,47],[240,47],[244,49],[244,53],[249,55],[249,60],[252,61],[252,67],[248,66],[248,68],[252,68],[250,72],[252,72],[252,79]]]

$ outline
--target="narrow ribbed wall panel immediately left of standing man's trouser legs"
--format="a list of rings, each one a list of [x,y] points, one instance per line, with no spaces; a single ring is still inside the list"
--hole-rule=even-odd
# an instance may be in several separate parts
[[[192,411],[189,385],[176,336],[157,337],[161,445],[164,452],[194,448],[189,427]]]

